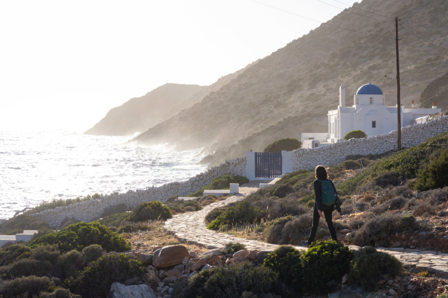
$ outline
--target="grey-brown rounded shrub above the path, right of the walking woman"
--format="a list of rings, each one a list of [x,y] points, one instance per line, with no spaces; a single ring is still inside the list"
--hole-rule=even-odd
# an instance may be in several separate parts
[[[369,219],[357,231],[350,234],[350,239],[359,246],[389,246],[395,233],[415,230],[419,224],[412,215],[384,213]]]

